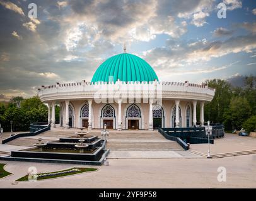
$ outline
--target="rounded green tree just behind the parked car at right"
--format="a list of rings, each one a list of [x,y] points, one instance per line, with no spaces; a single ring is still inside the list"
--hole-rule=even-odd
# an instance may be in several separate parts
[[[241,129],[241,125],[250,117],[251,107],[245,97],[233,97],[230,101],[230,106],[224,112],[224,126],[226,129],[231,129],[234,124],[236,129]]]

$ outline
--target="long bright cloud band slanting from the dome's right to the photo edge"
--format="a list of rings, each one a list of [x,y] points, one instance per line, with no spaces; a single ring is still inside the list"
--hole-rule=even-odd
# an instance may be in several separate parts
[[[144,58],[156,70],[192,66],[198,62],[209,62],[212,58],[230,53],[252,52],[256,48],[256,35],[236,36],[224,41],[205,39],[187,42],[174,42],[165,47],[153,48],[144,53]]]

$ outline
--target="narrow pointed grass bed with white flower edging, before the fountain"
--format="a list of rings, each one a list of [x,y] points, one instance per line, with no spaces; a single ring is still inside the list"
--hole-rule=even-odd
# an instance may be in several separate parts
[[[73,169],[76,169],[76,171],[71,171]],[[96,169],[96,168],[69,168],[67,170],[61,170],[61,171],[38,173],[37,180],[47,180],[49,178],[58,178],[58,177],[64,177],[64,176],[69,176],[69,175],[76,175],[76,174],[83,173],[86,171],[96,171],[96,170],[98,170],[98,169]],[[70,171],[70,172],[66,172],[66,171]],[[44,174],[53,174],[53,175],[44,175]],[[28,175],[25,175],[24,177],[21,177],[16,181],[17,182],[28,181]]]

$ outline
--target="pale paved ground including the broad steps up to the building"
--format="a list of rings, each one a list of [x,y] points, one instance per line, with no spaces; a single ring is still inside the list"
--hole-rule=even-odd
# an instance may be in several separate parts
[[[32,147],[37,138],[52,141],[74,136],[78,129],[55,128],[38,136],[15,139],[0,145],[0,155],[12,149]],[[100,130],[89,135],[101,138]],[[8,134],[6,134],[8,136]],[[93,166],[98,171],[38,182],[13,181],[26,175],[30,166],[38,172],[59,171],[74,166],[88,165],[28,163],[1,161],[13,175],[0,180],[1,188],[255,188],[256,155],[207,159],[207,144],[191,144],[184,151],[176,142],[166,140],[158,131],[111,130],[107,148],[109,166]],[[256,149],[256,138],[226,134],[211,144],[212,154]],[[198,154],[197,154],[198,153]],[[226,182],[218,182],[218,167],[227,171]],[[100,182],[98,182],[100,181]]]

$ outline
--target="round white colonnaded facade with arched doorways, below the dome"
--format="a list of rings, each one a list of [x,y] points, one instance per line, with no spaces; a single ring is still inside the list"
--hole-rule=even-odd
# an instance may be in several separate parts
[[[178,82],[76,82],[42,86],[40,99],[49,106],[49,123],[55,126],[55,104],[61,106],[60,125],[65,128],[149,129],[189,127],[204,123],[204,102],[214,89]],[[52,114],[50,112],[52,107]]]

